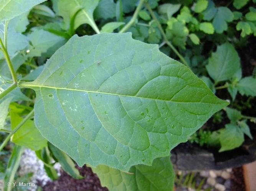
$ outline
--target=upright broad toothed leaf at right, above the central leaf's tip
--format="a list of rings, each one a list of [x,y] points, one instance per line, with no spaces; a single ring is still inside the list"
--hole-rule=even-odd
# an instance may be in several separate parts
[[[218,46],[211,54],[206,70],[215,83],[231,79],[240,70],[240,58],[233,45],[225,43]]]

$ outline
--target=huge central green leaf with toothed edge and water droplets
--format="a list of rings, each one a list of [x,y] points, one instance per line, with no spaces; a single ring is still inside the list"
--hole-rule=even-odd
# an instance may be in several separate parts
[[[131,33],[73,36],[35,81],[20,86],[36,91],[35,123],[53,145],[80,166],[124,171],[169,155],[227,105]]]

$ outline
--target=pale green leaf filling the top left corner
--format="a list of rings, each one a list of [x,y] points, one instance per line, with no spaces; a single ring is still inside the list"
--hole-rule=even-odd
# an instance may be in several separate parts
[[[33,6],[46,0],[1,0],[0,21],[9,20],[30,10]]]

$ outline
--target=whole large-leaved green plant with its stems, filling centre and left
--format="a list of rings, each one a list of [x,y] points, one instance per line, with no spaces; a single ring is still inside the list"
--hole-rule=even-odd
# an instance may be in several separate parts
[[[5,184],[28,147],[53,179],[51,157],[75,178],[82,177],[73,160],[92,167],[110,190],[172,190],[170,150],[228,102],[187,67],[152,11],[154,1],[140,0],[126,24],[117,11],[118,22],[101,30],[93,16],[105,14],[99,0],[52,0],[55,13],[38,5],[44,1],[0,2],[0,128],[8,133],[0,149],[10,139],[16,144]],[[183,64],[127,32],[146,10]],[[26,18],[36,20],[29,31]],[[76,35],[82,24],[96,34]],[[35,70],[24,75],[27,67]]]

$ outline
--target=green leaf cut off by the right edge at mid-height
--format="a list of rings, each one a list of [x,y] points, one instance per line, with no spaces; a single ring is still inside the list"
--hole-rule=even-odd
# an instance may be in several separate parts
[[[256,96],[256,78],[253,78],[253,76],[242,78],[236,88],[242,95]]]

